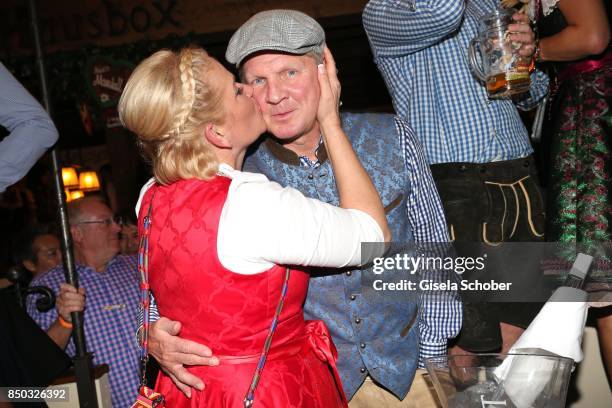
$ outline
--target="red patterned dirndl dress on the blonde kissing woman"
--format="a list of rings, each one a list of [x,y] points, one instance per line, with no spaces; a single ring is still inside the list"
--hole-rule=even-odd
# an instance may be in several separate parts
[[[208,345],[220,359],[217,367],[190,369],[206,384],[204,391],[192,398],[207,407],[242,406],[285,279],[281,266],[243,275],[224,268],[219,261],[217,234],[230,183],[230,179],[217,176],[210,181],[191,179],[156,186],[146,193],[141,207],[142,217],[155,194],[149,275],[160,313],[180,321],[182,337]],[[334,382],[329,381],[329,369],[323,361],[326,356],[315,354],[331,357],[333,346],[313,352],[317,347],[312,343],[321,335],[325,337],[322,331],[326,329],[304,322],[302,303],[307,287],[308,275],[292,270],[255,394],[258,406],[342,404]],[[326,377],[328,380],[322,381]],[[158,385],[169,399],[188,404],[168,377],[162,375]]]

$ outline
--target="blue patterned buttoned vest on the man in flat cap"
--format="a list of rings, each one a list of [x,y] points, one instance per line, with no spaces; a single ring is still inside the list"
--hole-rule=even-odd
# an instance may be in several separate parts
[[[394,242],[413,241],[406,211],[410,182],[395,120],[388,114],[343,114],[343,127],[381,195]],[[308,197],[338,205],[334,175],[323,145],[316,169],[300,166],[298,156],[266,138],[245,160],[244,170],[265,174]],[[337,273],[337,270],[335,271]],[[385,272],[392,273],[392,272]],[[325,322],[338,349],[338,369],[347,398],[370,375],[403,398],[419,354],[417,300],[410,293],[374,296],[361,270],[329,275],[312,271],[304,306],[307,319]]]

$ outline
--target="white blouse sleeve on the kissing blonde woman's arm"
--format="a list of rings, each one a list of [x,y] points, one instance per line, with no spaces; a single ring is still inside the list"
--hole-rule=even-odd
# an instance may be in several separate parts
[[[273,264],[356,266],[361,243],[383,239],[379,225],[363,211],[307,198],[261,174],[235,171],[217,250],[227,269],[254,274]]]

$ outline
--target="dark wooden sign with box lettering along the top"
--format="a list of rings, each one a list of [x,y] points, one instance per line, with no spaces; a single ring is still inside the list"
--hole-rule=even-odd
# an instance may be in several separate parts
[[[46,52],[87,45],[111,46],[170,34],[235,30],[253,14],[296,9],[312,17],[361,13],[367,0],[41,0],[38,1]],[[0,53],[32,52],[27,2],[0,2]]]

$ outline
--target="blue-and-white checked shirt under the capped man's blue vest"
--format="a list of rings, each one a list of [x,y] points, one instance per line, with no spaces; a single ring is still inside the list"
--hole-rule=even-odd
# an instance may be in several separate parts
[[[447,242],[444,211],[421,144],[403,120],[396,117],[395,125],[412,187],[406,211],[414,240],[417,243]],[[322,143],[321,139],[318,147]],[[300,156],[300,163],[306,167],[320,164],[318,159],[311,160],[307,156]],[[448,339],[457,336],[461,329],[463,309],[459,296],[456,293],[439,296],[428,293],[419,299],[420,367],[424,366],[425,358],[446,354]]]

